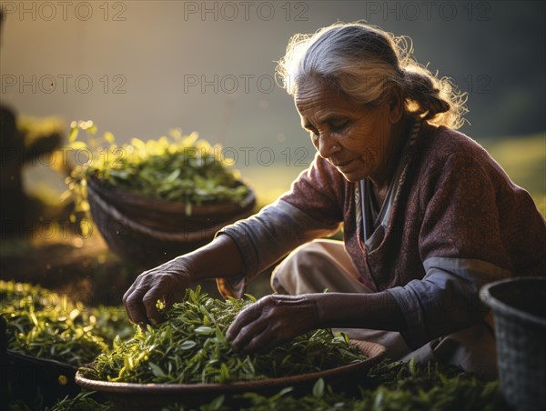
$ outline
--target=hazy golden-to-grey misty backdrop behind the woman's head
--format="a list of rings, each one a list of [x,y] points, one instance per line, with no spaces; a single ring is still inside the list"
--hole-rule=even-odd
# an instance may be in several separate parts
[[[60,116],[66,127],[91,119],[118,143],[180,127],[230,147],[241,170],[287,165],[297,174],[314,148],[291,97],[273,82],[276,61],[291,35],[356,20],[409,36],[420,64],[468,92],[463,133],[546,130],[541,1],[0,5],[2,104],[20,115]]]

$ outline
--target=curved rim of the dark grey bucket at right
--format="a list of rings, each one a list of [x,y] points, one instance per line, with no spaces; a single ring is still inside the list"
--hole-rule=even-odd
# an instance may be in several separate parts
[[[491,291],[493,291],[495,288],[524,282],[536,282],[546,286],[546,276],[522,276],[494,281],[481,287],[480,299],[484,304],[490,306],[494,315],[515,316],[518,318],[518,320],[528,324],[531,323],[536,326],[546,326],[546,318],[536,316],[526,311],[522,311],[514,306],[510,306],[491,294]]]

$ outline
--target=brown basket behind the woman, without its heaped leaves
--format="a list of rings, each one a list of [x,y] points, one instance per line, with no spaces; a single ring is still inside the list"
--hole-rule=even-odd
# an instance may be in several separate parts
[[[251,215],[256,204],[252,190],[243,205],[193,206],[144,195],[87,179],[91,216],[106,244],[116,255],[149,268],[204,246],[217,231]]]

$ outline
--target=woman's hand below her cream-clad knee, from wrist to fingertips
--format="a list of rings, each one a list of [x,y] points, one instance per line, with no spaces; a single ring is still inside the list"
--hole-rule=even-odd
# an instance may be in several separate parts
[[[244,308],[227,329],[231,346],[265,352],[319,327],[317,296],[265,296]]]

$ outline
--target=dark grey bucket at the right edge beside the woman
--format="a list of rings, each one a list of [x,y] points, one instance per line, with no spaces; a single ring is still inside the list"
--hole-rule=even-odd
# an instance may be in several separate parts
[[[481,300],[495,320],[502,392],[517,409],[546,409],[546,277],[484,286]]]

